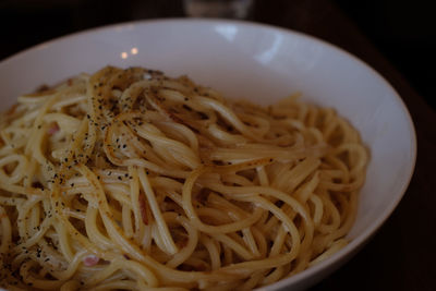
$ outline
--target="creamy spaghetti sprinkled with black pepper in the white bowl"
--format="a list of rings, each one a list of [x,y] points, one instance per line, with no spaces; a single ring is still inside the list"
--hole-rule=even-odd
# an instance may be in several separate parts
[[[332,109],[142,68],[20,96],[0,122],[8,290],[272,283],[347,244],[367,163]]]

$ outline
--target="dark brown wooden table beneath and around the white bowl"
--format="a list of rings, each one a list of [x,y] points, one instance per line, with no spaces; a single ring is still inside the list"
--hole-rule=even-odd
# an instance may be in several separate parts
[[[172,0],[112,1],[110,4],[100,0],[69,0],[63,4],[49,0],[32,4],[20,0],[9,1],[3,8],[10,10],[2,10],[2,20],[12,22],[12,31],[3,32],[1,59],[24,47],[93,26],[184,15],[181,2]],[[10,20],[9,15],[12,15]],[[35,22],[26,23],[26,20]],[[399,207],[354,258],[311,290],[436,290],[435,111],[329,0],[258,0],[251,20],[316,36],[361,58],[397,89],[416,129],[415,173]],[[14,22],[21,21],[31,26],[13,27]]]

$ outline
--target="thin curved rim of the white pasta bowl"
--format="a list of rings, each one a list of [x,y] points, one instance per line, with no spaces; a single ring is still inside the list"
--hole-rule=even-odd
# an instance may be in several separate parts
[[[222,24],[230,24],[234,25],[238,27],[242,28],[254,28],[254,29],[266,29],[268,33],[280,33],[287,37],[298,37],[300,39],[303,39],[304,41],[310,41],[313,43],[317,46],[323,46],[328,48],[329,50],[334,51],[335,53],[340,53],[344,56],[346,58],[350,59],[351,61],[355,62],[360,66],[364,66],[370,74],[373,74],[376,76],[378,80],[382,81],[383,85],[386,86],[393,99],[397,101],[397,104],[400,106],[402,114],[405,117],[408,121],[408,131],[411,137],[411,148],[410,148],[410,169],[407,173],[407,179],[402,181],[401,187],[398,191],[398,194],[395,196],[395,199],[390,202],[390,204],[384,209],[382,215],[379,215],[375,220],[372,221],[370,227],[364,229],[361,233],[355,235],[344,247],[342,247],[340,251],[331,255],[330,257],[326,258],[325,260],[307,268],[304,269],[303,271],[300,271],[295,275],[292,275],[291,277],[283,278],[275,283],[271,283],[269,286],[261,287],[258,290],[277,290],[284,288],[287,286],[294,284],[299,281],[302,281],[305,278],[313,277],[316,274],[319,274],[322,271],[325,271],[329,268],[329,266],[332,265],[338,265],[343,264],[343,259],[348,256],[351,255],[353,256],[356,252],[359,251],[360,247],[362,247],[379,229],[380,227],[386,222],[386,220],[391,216],[393,210],[397,208],[398,204],[401,202],[402,197],[404,196],[410,182],[412,180],[414,169],[416,166],[416,155],[417,155],[417,148],[416,148],[416,132],[414,128],[414,123],[412,120],[412,117],[408,110],[408,107],[405,106],[403,99],[400,97],[400,95],[397,93],[397,90],[393,88],[393,86],[380,74],[378,73],[374,68],[372,68],[370,64],[367,64],[365,61],[360,59],[359,57],[352,54],[351,52],[347,51],[346,49],[342,49],[341,47],[334,45],[331,43],[328,43],[327,40],[324,40],[322,38],[318,38],[316,36],[312,36],[302,32],[293,31],[290,28],[284,28],[284,27],[279,27],[270,24],[263,24],[263,23],[256,23],[252,21],[241,21],[241,20],[225,20],[225,19],[202,19],[202,17],[166,17],[166,19],[149,19],[149,20],[138,20],[138,21],[128,21],[128,22],[120,22],[120,23],[113,23],[113,24],[108,24],[108,25],[102,25],[102,26],[97,26],[97,27],[92,27],[83,31],[77,31],[68,35],[63,35],[60,37],[56,37],[52,39],[49,39],[47,41],[43,41],[40,44],[37,44],[35,46],[31,46],[26,49],[23,49],[19,52],[15,52],[13,54],[10,54],[9,57],[5,57],[4,59],[0,60],[0,66],[3,66],[10,62],[14,62],[21,58],[25,58],[27,53],[35,51],[35,50],[43,50],[47,48],[48,46],[56,45],[57,43],[61,41],[66,41],[69,39],[73,39],[76,37],[81,36],[92,36],[101,32],[108,32],[108,31],[116,31],[116,29],[125,29],[128,27],[133,27],[134,29],[142,29],[143,27],[147,25],[168,25],[168,24],[192,24],[192,25],[222,25]],[[353,252],[354,251],[354,252]]]

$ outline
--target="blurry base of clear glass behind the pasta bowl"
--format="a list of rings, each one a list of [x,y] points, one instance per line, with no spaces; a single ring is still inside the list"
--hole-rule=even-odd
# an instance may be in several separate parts
[[[191,17],[247,19],[253,0],[184,0]]]

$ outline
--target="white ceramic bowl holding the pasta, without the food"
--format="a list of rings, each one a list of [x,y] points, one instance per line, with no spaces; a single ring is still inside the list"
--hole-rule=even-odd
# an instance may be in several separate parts
[[[231,21],[165,20],[92,29],[41,44],[0,63],[1,110],[19,94],[107,65],[187,74],[229,97],[269,104],[301,90],[334,107],[371,149],[351,243],[325,262],[264,290],[307,288],[367,241],[400,202],[411,179],[415,133],[404,104],[374,70],[313,37]]]

